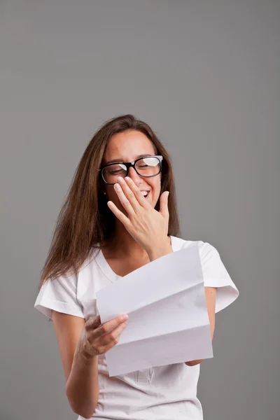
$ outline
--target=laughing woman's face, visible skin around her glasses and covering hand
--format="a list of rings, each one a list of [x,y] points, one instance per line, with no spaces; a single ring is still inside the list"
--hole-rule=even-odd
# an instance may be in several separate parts
[[[102,165],[106,165],[111,160],[116,162],[132,162],[133,160],[137,160],[141,155],[157,155],[155,146],[153,146],[153,143],[145,134],[135,130],[114,134],[106,147]],[[127,176],[130,176],[139,190],[148,191],[146,200],[155,207],[160,196],[161,173],[150,178],[145,178],[137,174],[134,168],[130,167]],[[104,183],[104,190],[106,191],[108,200],[116,204],[120,211],[125,212],[113,185]]]

